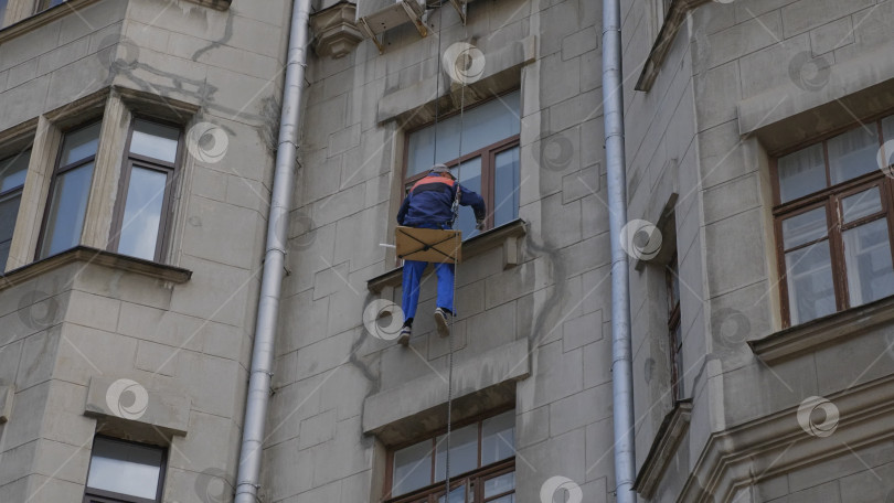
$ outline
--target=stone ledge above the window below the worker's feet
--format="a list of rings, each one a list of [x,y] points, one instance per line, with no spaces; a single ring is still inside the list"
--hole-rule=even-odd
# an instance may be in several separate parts
[[[515,382],[531,373],[528,340],[490,350],[454,368],[453,419],[513,404]],[[415,357],[415,356],[407,356]],[[436,373],[363,402],[363,432],[393,446],[447,426],[447,384]]]

